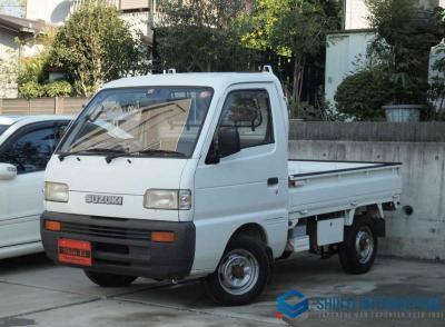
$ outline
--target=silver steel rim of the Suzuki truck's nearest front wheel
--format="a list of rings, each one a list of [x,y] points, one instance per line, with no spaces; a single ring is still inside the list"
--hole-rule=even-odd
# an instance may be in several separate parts
[[[253,289],[258,275],[258,261],[247,250],[229,251],[218,267],[219,284],[233,295],[243,295]]]

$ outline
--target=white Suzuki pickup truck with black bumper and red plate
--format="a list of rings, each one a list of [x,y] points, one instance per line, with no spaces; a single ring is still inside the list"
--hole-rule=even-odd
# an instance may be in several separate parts
[[[270,71],[106,85],[48,165],[47,255],[105,287],[202,278],[224,305],[251,301],[294,252],[368,271],[400,164],[288,160],[288,126]]]

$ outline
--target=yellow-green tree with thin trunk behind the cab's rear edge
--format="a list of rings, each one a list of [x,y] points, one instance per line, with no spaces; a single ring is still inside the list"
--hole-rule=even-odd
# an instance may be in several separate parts
[[[337,10],[328,0],[258,0],[244,18],[246,44],[294,58],[291,100],[297,107],[306,65],[324,50],[326,32],[339,27]]]

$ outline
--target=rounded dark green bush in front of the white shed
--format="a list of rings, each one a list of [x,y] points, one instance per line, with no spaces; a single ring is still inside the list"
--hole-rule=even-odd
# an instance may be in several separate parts
[[[338,86],[334,99],[340,113],[356,120],[382,120],[385,118],[382,106],[392,100],[392,83],[378,70],[362,70]]]

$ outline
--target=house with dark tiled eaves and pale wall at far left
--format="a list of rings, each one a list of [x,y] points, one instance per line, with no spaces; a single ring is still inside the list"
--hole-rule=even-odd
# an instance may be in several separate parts
[[[46,23],[41,20],[0,14],[0,98],[16,98],[18,59],[34,56],[41,44],[38,37]]]

